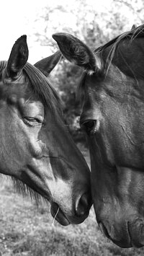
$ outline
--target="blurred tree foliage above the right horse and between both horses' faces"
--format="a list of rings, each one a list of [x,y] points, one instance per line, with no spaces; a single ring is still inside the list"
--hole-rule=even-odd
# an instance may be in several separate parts
[[[133,23],[140,25],[143,22],[143,7],[143,0],[109,0],[107,4],[105,1],[105,5],[92,0],[73,0],[73,4],[71,1],[52,1],[35,21],[39,31],[35,32],[35,40],[41,45],[48,45],[55,52],[57,45],[51,35],[55,32],[68,32],[94,50],[112,37],[130,30]],[[63,100],[63,111],[70,131],[81,137],[76,125],[81,112],[80,104],[76,101],[76,87],[81,71],[65,62],[60,63],[52,76]]]

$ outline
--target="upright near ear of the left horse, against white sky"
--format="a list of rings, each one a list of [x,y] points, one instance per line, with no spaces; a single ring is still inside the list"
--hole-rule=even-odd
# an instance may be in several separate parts
[[[10,53],[6,67],[6,76],[13,79],[19,76],[24,65],[27,63],[28,55],[27,35],[22,35],[22,37],[19,37],[14,43]]]

